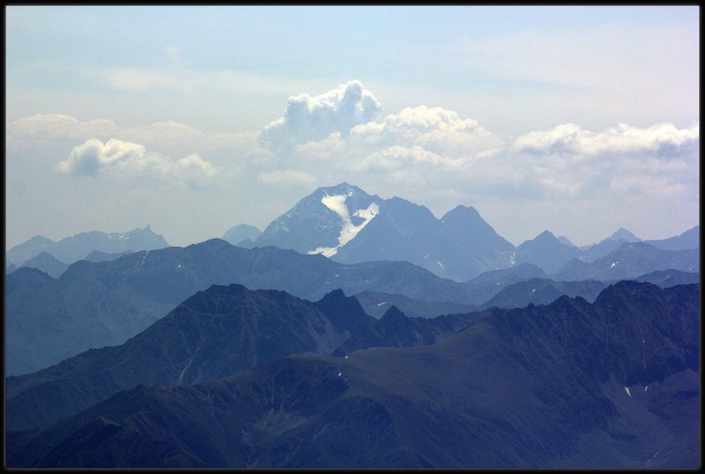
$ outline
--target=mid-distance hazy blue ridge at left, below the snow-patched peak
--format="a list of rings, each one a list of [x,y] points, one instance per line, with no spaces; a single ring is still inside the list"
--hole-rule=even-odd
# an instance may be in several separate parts
[[[33,372],[89,348],[115,346],[212,284],[274,288],[317,300],[335,288],[464,303],[467,285],[407,262],[343,265],[274,247],[245,249],[212,239],[185,248],[81,260],[57,279],[20,269],[6,286],[7,374]]]

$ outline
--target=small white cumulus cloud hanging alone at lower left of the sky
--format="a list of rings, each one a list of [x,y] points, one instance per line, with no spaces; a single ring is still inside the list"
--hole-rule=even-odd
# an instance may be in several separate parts
[[[56,164],[56,169],[74,176],[97,176],[105,171],[115,171],[117,176],[163,178],[194,187],[201,186],[219,172],[197,154],[173,160],[148,152],[138,143],[116,139],[104,143],[97,138],[75,147],[67,159]]]

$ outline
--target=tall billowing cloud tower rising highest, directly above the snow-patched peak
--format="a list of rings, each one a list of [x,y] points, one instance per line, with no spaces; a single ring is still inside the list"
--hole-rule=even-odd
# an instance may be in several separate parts
[[[374,119],[380,109],[372,92],[358,80],[322,95],[289,97],[284,116],[264,127],[260,142],[269,150],[286,151],[331,133],[347,135],[354,126]]]

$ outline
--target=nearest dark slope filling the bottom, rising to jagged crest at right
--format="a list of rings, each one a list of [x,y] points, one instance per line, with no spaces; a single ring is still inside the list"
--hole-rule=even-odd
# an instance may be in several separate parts
[[[494,309],[433,346],[123,391],[10,467],[697,468],[699,286]]]

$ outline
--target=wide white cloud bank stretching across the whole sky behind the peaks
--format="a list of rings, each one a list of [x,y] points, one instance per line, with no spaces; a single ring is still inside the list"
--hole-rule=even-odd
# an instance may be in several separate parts
[[[605,226],[628,226],[632,216],[646,221],[649,214],[666,221],[675,212],[679,221],[697,219],[699,121],[605,130],[563,123],[511,138],[442,107],[384,116],[381,107],[353,80],[321,95],[290,97],[283,116],[259,132],[206,133],[176,121],[121,127],[109,119],[44,114],[9,123],[6,137],[13,152],[47,144],[51,166],[62,174],[123,188],[139,188],[143,180],[209,187],[213,198],[212,185],[222,182],[247,188],[247,199],[257,193],[259,206],[276,202],[276,212],[317,186],[347,181],[437,214],[458,203],[489,208],[515,222],[508,233],[546,221],[559,207],[554,222],[541,224],[559,233],[570,233],[559,226],[575,218],[575,209],[589,215],[611,209],[601,217],[611,219]],[[65,150],[59,164],[56,150]]]

